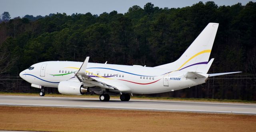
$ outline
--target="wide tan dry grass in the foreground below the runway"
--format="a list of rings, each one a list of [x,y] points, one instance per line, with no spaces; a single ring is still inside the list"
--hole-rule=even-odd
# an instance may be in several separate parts
[[[0,115],[0,130],[256,132],[254,115],[8,106]]]

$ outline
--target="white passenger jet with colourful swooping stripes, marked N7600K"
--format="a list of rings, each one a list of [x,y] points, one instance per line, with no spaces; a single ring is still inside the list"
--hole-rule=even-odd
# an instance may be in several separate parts
[[[120,95],[129,101],[133,94],[163,93],[205,83],[212,76],[234,74],[226,72],[207,74],[214,58],[210,53],[219,23],[208,23],[178,60],[155,67],[117,64],[47,61],[33,64],[20,72],[20,77],[40,88],[57,87],[59,93],[83,95],[94,92],[100,101],[109,101],[110,95]]]

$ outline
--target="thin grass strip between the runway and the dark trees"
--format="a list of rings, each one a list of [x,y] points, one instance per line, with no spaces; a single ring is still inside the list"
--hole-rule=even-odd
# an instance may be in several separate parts
[[[20,95],[20,96],[39,96],[38,93],[4,93],[0,95]],[[98,98],[98,95],[63,95],[63,94],[46,94],[46,97],[84,97]],[[112,99],[119,99],[119,96],[111,96]],[[169,100],[169,101],[202,101],[202,102],[225,102],[225,103],[256,103],[256,101],[236,100],[236,99],[204,99],[204,98],[172,98],[172,97],[146,97],[133,96],[131,99],[149,99],[149,100]]]

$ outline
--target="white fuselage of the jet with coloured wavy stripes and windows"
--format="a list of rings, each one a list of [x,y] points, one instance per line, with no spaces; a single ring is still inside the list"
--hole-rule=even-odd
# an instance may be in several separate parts
[[[48,61],[32,65],[34,69],[26,69],[20,76],[29,83],[58,87],[58,83],[74,79],[82,62]],[[116,64],[88,63],[86,75],[97,80],[114,80],[131,89],[130,93],[162,93],[191,87],[205,83],[207,77],[185,78],[184,70],[164,68],[126,66]]]

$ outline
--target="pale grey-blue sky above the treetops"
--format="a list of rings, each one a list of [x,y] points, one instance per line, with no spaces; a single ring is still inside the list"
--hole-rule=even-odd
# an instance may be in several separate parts
[[[50,13],[102,14],[103,12],[126,13],[134,5],[141,8],[148,2],[159,8],[182,8],[192,6],[199,1],[214,1],[218,6],[231,6],[238,2],[246,5],[249,1],[256,0],[0,0],[0,14],[9,12],[11,18],[25,15],[45,16]]]

